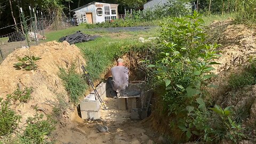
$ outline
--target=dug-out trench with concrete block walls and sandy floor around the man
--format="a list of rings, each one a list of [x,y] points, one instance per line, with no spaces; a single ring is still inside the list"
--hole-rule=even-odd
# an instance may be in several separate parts
[[[151,129],[148,118],[153,92],[143,82],[145,73],[139,64],[140,57],[134,57],[139,54],[129,55],[122,57],[130,69],[129,82],[132,82],[127,90],[140,93],[121,94],[115,99],[110,97],[106,82],[99,83],[96,90],[107,109],[91,89],[78,105],[75,120],[67,125],[67,132],[58,139],[60,143],[163,143],[162,137]]]

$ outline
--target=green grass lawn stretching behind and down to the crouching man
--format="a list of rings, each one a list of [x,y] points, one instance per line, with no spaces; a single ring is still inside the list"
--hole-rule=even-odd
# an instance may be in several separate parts
[[[204,15],[202,18],[206,25],[210,25],[213,20],[226,20],[231,15]],[[159,20],[161,23],[161,20]],[[160,27],[152,28],[148,31],[121,31],[119,33],[110,33],[102,29],[87,29],[87,26],[81,25],[70,27],[58,31],[46,32],[46,41],[58,41],[60,37],[76,33],[81,30],[84,34],[101,35],[102,37],[94,41],[75,44],[84,54],[87,60],[86,69],[91,73],[93,79],[99,76],[113,63],[113,61],[121,57],[124,53],[131,49],[143,49],[143,44],[138,41],[139,37],[157,37]],[[145,47],[145,46],[144,46]]]

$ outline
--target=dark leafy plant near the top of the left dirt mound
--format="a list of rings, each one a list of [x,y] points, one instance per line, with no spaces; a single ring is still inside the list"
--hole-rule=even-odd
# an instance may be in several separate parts
[[[29,55],[25,55],[25,57],[20,58],[17,57],[17,59],[20,61],[18,63],[14,63],[14,67],[17,69],[25,69],[25,70],[36,70],[37,65],[36,65],[36,61],[42,59],[39,57],[34,57],[33,56],[29,56]]]

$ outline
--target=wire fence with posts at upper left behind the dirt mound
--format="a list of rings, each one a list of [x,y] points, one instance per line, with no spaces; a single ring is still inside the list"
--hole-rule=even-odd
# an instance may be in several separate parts
[[[45,31],[66,29],[75,26],[74,19],[62,15],[61,18],[25,18],[20,23],[0,28],[0,63],[15,49],[38,45],[45,40]],[[6,32],[11,31],[11,32]]]

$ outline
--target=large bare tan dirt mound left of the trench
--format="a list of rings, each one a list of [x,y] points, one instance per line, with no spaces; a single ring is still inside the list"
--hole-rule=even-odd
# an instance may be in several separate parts
[[[24,55],[42,58],[36,62],[38,65],[36,70],[17,70],[13,67],[13,63],[18,62],[17,57],[24,57]],[[67,95],[58,76],[59,67],[67,68],[72,62],[77,63],[78,59],[85,63],[81,55],[78,47],[69,45],[66,41],[47,42],[29,49],[15,50],[0,66],[0,97],[5,98],[6,94],[12,93],[18,85],[22,88],[33,87],[32,99],[15,107],[18,114],[22,115],[22,122],[24,123],[27,117],[35,114],[32,107],[36,105],[45,114],[51,113],[52,106],[49,106],[46,101],[55,101],[57,94]]]

